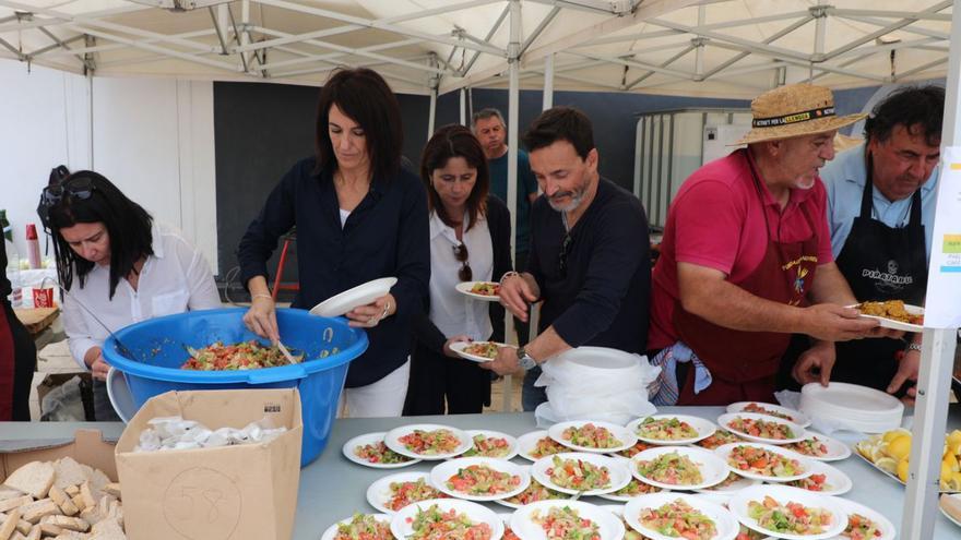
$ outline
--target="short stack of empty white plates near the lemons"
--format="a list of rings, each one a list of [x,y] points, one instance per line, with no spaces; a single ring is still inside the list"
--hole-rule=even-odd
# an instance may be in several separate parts
[[[804,385],[800,410],[838,428],[863,433],[882,433],[901,427],[904,405],[881,391],[847,383]]]

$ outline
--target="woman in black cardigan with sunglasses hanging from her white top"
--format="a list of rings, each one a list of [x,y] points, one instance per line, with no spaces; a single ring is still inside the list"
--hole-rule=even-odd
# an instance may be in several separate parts
[[[510,214],[488,194],[484,148],[463,125],[439,129],[420,159],[430,211],[430,309],[415,325],[405,415],[482,412],[490,404],[490,373],[462,359],[451,344],[502,340],[503,321],[490,304],[458,292],[462,281],[489,281],[511,269]],[[495,333],[495,326],[499,332]]]

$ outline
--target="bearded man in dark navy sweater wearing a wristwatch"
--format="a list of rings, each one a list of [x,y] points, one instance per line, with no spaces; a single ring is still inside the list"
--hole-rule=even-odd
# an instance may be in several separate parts
[[[531,212],[527,272],[501,278],[501,303],[526,321],[543,300],[539,335],[520,349],[502,348],[482,364],[497,373],[526,370],[522,401],[546,400],[535,388],[537,364],[591,345],[642,353],[646,347],[651,257],[640,201],[597,172],[588,117],[570,107],[544,111],[524,134],[544,196]]]

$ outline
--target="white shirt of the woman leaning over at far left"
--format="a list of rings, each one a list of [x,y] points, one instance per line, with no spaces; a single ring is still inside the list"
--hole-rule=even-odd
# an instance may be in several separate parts
[[[120,279],[110,300],[110,267],[95,265],[83,288],[76,274],[63,297],[63,329],[73,359],[87,369],[83,357],[100,347],[107,331],[83,308],[96,313],[111,331],[155,316],[221,308],[221,297],[210,264],[179,230],[154,221],[151,229],[154,254],[140,271],[137,290]]]

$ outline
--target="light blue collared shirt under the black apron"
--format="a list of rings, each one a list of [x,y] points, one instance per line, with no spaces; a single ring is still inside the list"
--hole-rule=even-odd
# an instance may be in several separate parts
[[[861,214],[861,197],[867,178],[864,159],[865,145],[861,144],[842,152],[821,169],[821,180],[828,189],[828,226],[831,229],[831,251],[834,259],[841,254],[854,218]],[[938,168],[921,187],[921,224],[924,225],[924,240],[927,256],[930,259],[932,230],[935,226],[935,201],[938,195]],[[911,217],[911,199],[888,201],[880,191],[874,190],[873,217],[888,227],[905,227]]]

